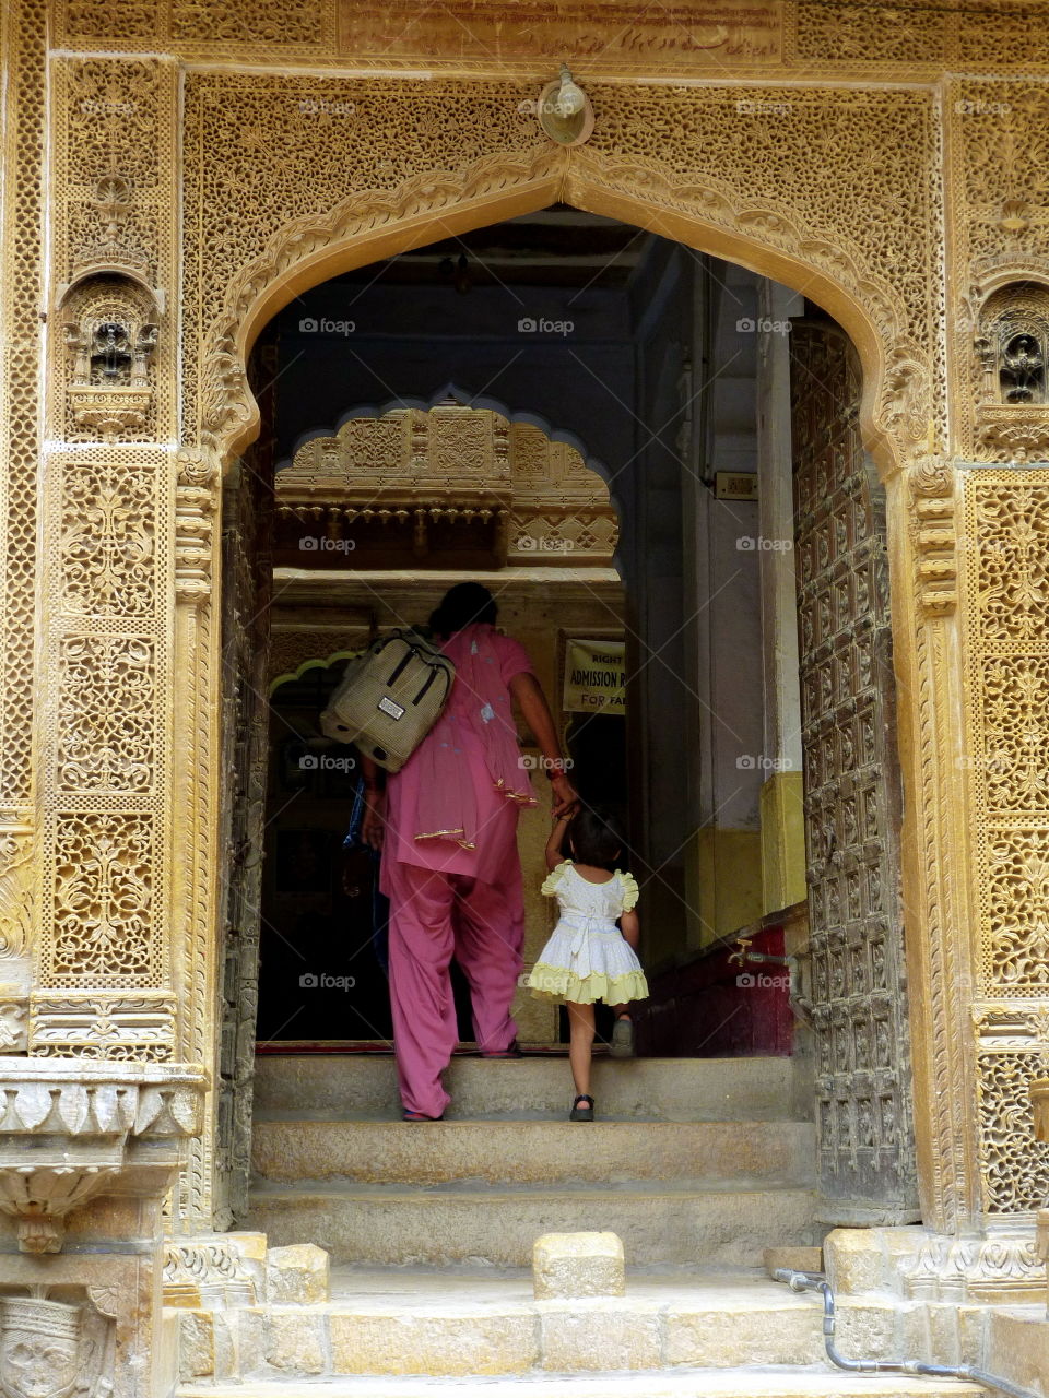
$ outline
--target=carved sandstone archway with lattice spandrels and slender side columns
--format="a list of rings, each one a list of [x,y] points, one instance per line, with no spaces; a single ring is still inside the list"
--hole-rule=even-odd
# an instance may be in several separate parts
[[[92,81],[90,73],[81,78],[85,101]],[[106,81],[102,69],[97,81]],[[357,103],[361,120],[352,143],[333,143],[330,131],[302,117],[302,99],[317,81],[329,96]],[[923,583],[920,597],[915,593],[912,499],[899,470],[923,459],[913,473],[915,509],[950,521],[951,478],[930,457],[939,372],[937,312],[930,299],[939,236],[930,193],[933,105],[927,92],[902,88],[754,88],[761,101],[743,101],[740,91],[596,87],[594,137],[565,152],[551,150],[530,116],[522,115],[534,94],[516,80],[441,78],[420,87],[375,77],[186,73],[183,239],[178,256],[169,254],[168,239],[158,263],[165,280],[182,271],[182,446],[175,478],[161,480],[162,498],[150,516],[150,527],[158,521],[164,566],[171,569],[162,596],[172,649],[158,685],[172,700],[158,742],[172,761],[158,777],[158,843],[151,854],[162,891],[158,924],[165,945],[158,941],[141,977],[159,987],[164,1023],[157,1033],[166,1036],[166,1051],[193,1061],[213,1061],[215,1051],[214,516],[221,468],[255,431],[245,379],[252,337],[298,289],[340,267],[552,200],[632,218],[751,266],[806,291],[852,336],[864,370],[864,436],[887,480],[890,549],[901,584],[895,656],[905,691],[905,779],[913,797],[905,875],[915,909],[912,980],[929,984],[939,974],[941,984],[952,984],[943,974],[954,955],[948,928],[964,920],[966,895],[957,878],[944,877],[945,863],[937,857],[941,823],[934,807],[948,798],[951,783],[920,735],[936,723],[937,706],[952,712],[943,668],[936,672],[926,646],[933,632],[934,644],[943,646],[952,593],[937,583]],[[768,122],[773,99],[775,141]],[[455,122],[448,119],[450,108]],[[857,222],[857,207],[870,217]],[[162,407],[173,431],[173,401],[165,398]],[[155,459],[143,457],[143,464],[157,474],[168,454],[154,450]],[[923,566],[940,582],[950,579],[950,534],[945,548],[937,549],[934,540],[919,544]],[[919,646],[926,646],[920,654]],[[48,935],[31,1042],[41,1042],[50,1023],[49,988],[66,984],[50,979]],[[940,972],[933,969],[937,958]],[[131,987],[124,994],[122,984],[113,981],[106,1002],[112,1015],[130,1023],[137,1011],[130,1001],[123,1007],[122,994],[131,995]],[[56,1005],[55,1014],[60,1009]],[[939,1081],[945,1074],[959,1085],[966,1050],[957,1046],[969,1042],[966,1011],[948,991],[933,1018],[925,1061],[919,1055],[919,1082],[930,1085],[936,1072]],[[959,1144],[950,1095],[930,1090],[929,1106],[926,1218],[950,1222],[972,1209],[976,1177]],[[208,1121],[193,1146],[180,1201],[189,1227],[210,1218],[213,1153]]]

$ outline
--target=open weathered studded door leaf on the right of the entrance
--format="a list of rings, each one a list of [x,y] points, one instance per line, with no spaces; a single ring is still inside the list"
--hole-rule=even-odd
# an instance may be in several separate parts
[[[821,1218],[918,1218],[884,495],[856,355],[792,333],[794,547]]]

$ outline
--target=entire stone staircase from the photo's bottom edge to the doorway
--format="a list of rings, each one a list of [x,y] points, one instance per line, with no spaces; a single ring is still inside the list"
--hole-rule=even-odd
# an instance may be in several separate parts
[[[835,1371],[817,1297],[765,1275],[765,1248],[822,1237],[789,1060],[599,1060],[593,1124],[565,1120],[562,1057],[456,1058],[448,1083],[449,1120],[406,1125],[389,1058],[259,1061],[255,1232],[215,1240],[224,1297],[168,1311],[183,1398],[980,1392]],[[557,1232],[617,1233],[625,1296],[537,1300]],[[845,1353],[895,1329],[842,1307]]]

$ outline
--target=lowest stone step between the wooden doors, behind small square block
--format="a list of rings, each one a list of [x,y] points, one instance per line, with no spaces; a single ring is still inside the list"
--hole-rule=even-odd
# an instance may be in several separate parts
[[[431,1127],[411,1127],[429,1131]],[[801,1188],[618,1187],[548,1190],[456,1184],[260,1184],[246,1227],[270,1247],[319,1244],[334,1262],[529,1267],[543,1233],[611,1232],[627,1264],[758,1267],[766,1247],[820,1243],[815,1199]]]

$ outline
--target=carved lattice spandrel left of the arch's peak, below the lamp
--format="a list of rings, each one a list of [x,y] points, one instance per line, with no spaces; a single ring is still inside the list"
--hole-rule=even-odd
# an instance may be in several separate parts
[[[420,201],[450,203],[460,186],[460,175],[450,172],[469,169],[484,157],[492,161],[487,172],[491,187],[505,183],[518,162],[522,173],[533,166],[537,172],[551,168],[559,157],[551,155],[550,143],[536,123],[524,120],[519,110],[533,95],[527,82],[485,78],[406,88],[401,82],[355,78],[317,82],[297,75],[189,73],[185,439],[199,440],[201,417],[221,421],[231,387],[245,387],[239,355],[232,343],[224,343],[224,336],[235,334],[234,323],[242,319],[239,310],[229,319],[229,298],[241,294],[242,277],[257,278],[252,264],[267,252],[274,233],[294,221],[302,221],[304,233],[312,222],[324,226],[338,225],[343,218],[352,222],[354,206],[368,206],[365,221],[375,226],[397,217],[399,207],[407,211],[407,203],[415,210]],[[319,99],[338,113],[333,117],[336,138],[317,140],[313,106]],[[455,122],[448,119],[452,110]],[[403,141],[390,143],[393,126],[404,133]],[[474,183],[480,193],[485,182],[478,175]],[[347,194],[354,190],[358,193]],[[401,206],[404,194],[407,201]],[[222,221],[222,232],[214,217],[217,208],[236,211],[235,218]],[[280,250],[277,257],[288,264],[319,240],[317,233],[306,235],[305,240],[299,236],[292,250]],[[256,294],[260,285],[256,280]],[[249,301],[255,301],[255,294]],[[199,363],[204,341],[210,345],[208,362]],[[224,368],[220,359],[225,361]],[[200,390],[197,369],[207,376]],[[231,373],[235,379],[227,377]]]

